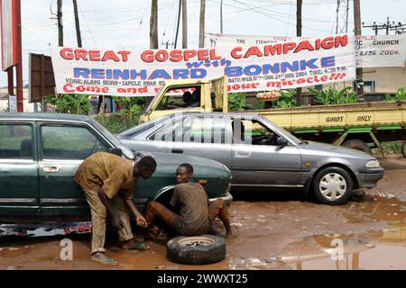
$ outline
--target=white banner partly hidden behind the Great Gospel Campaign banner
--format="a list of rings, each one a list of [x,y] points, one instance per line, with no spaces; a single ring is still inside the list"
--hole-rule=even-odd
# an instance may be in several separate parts
[[[272,44],[278,41],[305,40],[303,37],[252,36],[206,33],[206,47]],[[404,67],[406,34],[356,36],[356,67]]]

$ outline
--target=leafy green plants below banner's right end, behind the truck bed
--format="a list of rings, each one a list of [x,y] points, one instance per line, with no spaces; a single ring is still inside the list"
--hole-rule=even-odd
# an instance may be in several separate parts
[[[309,91],[316,96],[317,102],[323,105],[356,103],[358,95],[355,92],[350,92],[350,90],[350,86],[346,86],[341,90],[336,90],[329,86],[328,90],[322,91],[309,87]]]

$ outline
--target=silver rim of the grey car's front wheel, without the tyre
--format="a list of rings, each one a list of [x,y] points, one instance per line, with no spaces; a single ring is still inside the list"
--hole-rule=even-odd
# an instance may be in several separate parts
[[[335,201],[346,194],[346,178],[337,173],[328,173],[321,178],[318,189],[323,197]]]

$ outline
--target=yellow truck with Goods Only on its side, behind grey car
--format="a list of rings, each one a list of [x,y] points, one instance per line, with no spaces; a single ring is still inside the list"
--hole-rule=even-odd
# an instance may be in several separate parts
[[[226,76],[167,82],[153,97],[140,123],[175,112],[229,112]],[[190,94],[194,99],[188,99]],[[177,97],[183,93],[183,97]],[[182,103],[183,102],[183,103]],[[261,114],[302,140],[316,140],[372,153],[382,143],[401,142],[406,157],[406,101],[380,101],[295,108],[245,110]]]

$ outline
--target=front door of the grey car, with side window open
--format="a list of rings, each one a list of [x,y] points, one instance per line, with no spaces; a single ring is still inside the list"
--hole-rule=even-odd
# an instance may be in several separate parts
[[[231,163],[234,185],[303,187],[298,148],[291,144],[281,147],[276,143],[256,143],[255,139],[268,139],[276,133],[260,119],[235,117],[229,125],[234,136]],[[276,133],[276,137],[282,136]]]

